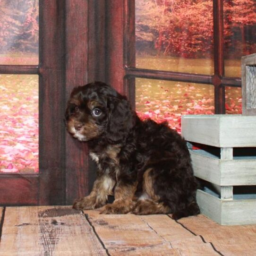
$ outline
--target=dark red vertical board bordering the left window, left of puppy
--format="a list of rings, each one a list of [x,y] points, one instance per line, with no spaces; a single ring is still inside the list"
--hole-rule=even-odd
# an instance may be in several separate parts
[[[65,1],[39,1],[40,205],[65,204]]]

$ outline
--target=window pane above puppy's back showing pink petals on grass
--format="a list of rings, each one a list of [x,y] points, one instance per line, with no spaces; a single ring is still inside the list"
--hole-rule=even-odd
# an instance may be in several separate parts
[[[214,87],[136,78],[136,110],[141,119],[168,121],[180,132],[181,115],[214,113]]]

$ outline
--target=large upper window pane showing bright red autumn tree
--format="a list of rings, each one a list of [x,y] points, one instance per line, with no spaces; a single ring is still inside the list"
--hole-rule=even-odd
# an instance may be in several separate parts
[[[136,67],[212,75],[212,0],[136,0]]]

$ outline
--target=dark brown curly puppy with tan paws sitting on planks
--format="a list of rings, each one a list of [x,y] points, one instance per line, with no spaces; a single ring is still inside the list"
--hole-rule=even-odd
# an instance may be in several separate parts
[[[102,82],[74,88],[65,118],[98,167],[92,192],[75,200],[75,209],[172,213],[173,219],[200,212],[186,142],[166,123],[141,121],[127,98]]]

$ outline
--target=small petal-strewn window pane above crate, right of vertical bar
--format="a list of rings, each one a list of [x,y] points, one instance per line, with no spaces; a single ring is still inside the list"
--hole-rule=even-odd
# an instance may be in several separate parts
[[[237,87],[225,87],[226,114],[242,113],[242,90]]]

